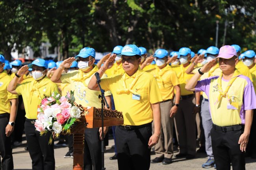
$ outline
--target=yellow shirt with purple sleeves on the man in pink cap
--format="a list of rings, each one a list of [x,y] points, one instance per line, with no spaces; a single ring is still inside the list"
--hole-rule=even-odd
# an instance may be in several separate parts
[[[250,79],[241,75],[239,71],[235,71],[236,80],[230,86],[227,94],[230,101],[226,97],[219,96],[219,88],[217,86],[219,76],[210,77],[200,80],[195,87],[197,91],[204,91],[209,98],[210,113],[213,124],[217,126],[232,126],[236,124],[245,124],[245,110],[256,108],[256,95]],[[221,88],[224,91],[228,86],[229,80],[221,80]],[[231,104],[232,102],[232,104]]]

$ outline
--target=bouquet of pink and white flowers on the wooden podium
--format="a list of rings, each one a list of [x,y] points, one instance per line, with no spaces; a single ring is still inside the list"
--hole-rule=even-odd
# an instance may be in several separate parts
[[[54,132],[54,137],[59,137],[60,133],[70,134],[72,124],[81,118],[81,111],[74,101],[74,91],[68,91],[65,97],[57,92],[50,97],[45,96],[37,109],[36,130],[41,135]],[[52,143],[52,137],[51,135],[49,144]]]

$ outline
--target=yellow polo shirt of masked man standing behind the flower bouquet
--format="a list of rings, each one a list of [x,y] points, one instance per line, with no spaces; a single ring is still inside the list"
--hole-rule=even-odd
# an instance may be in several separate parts
[[[53,92],[59,92],[57,85],[46,76],[39,81],[24,82],[18,85],[15,91],[22,95],[25,117],[28,119],[37,119],[37,106],[45,96],[50,97]]]

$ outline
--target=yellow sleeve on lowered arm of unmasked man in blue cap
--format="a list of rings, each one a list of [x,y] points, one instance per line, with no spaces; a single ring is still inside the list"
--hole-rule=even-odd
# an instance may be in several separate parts
[[[158,103],[158,102],[163,101],[155,77],[153,77],[153,78],[150,80],[150,86],[149,86],[148,90],[149,90],[149,91],[148,91],[148,94],[149,94],[149,101],[150,101],[151,104],[154,104],[154,103]]]

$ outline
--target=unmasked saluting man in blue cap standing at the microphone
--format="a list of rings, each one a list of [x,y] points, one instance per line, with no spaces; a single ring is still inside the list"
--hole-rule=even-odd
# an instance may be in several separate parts
[[[148,170],[150,148],[158,143],[161,127],[160,102],[162,101],[156,78],[139,68],[141,51],[134,44],[122,48],[124,74],[102,79],[101,87],[110,90],[115,109],[122,112],[124,125],[116,128],[117,161],[120,170]],[[106,60],[98,71],[100,77],[111,68],[115,56]],[[96,78],[88,84],[99,91]],[[152,121],[154,119],[154,134]]]

